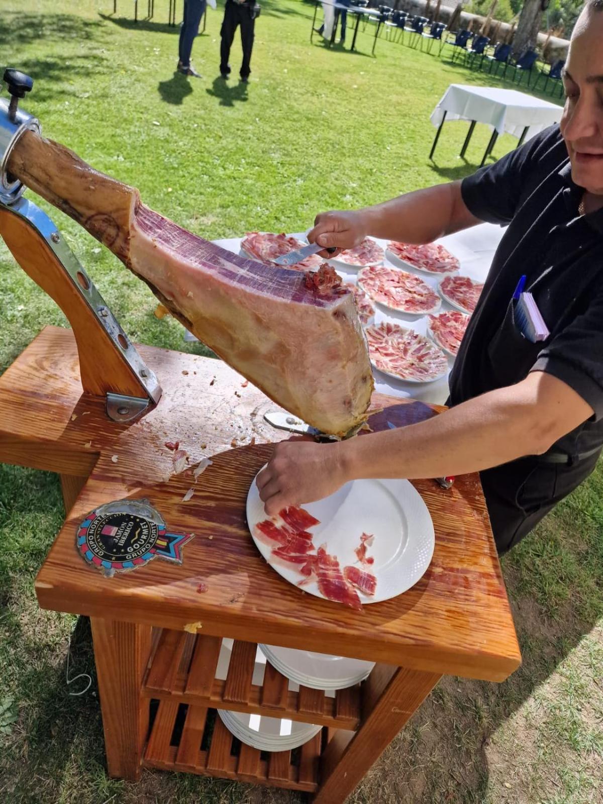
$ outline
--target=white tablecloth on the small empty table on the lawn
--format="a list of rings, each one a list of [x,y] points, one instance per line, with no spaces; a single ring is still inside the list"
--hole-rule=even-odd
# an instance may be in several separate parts
[[[533,137],[548,125],[558,123],[561,106],[540,100],[516,89],[469,87],[450,84],[430,117],[433,125],[446,120],[474,120],[491,125],[499,134],[521,137],[529,125],[526,138]]]

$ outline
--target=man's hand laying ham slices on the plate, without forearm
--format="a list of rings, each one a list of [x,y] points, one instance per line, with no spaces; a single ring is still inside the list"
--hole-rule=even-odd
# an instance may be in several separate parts
[[[257,487],[266,514],[274,516],[289,505],[328,497],[348,479],[339,443],[317,444],[306,437],[293,437],[276,445],[268,465],[257,476]]]

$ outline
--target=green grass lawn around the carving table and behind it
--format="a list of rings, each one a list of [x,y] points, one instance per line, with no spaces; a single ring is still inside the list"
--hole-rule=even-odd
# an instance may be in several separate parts
[[[489,132],[476,130],[464,162],[466,124],[451,123],[430,163],[429,113],[449,84],[501,85],[490,76],[384,40],[373,59],[368,28],[356,54],[310,45],[310,3],[264,0],[251,83],[218,77],[220,7],[195,42],[203,78],[187,80],[174,74],[178,29],[166,25],[167,5],[158,0],[154,21],[135,25],[113,18],[110,0],[2,0],[0,63],[34,76],[24,105],[47,137],[136,185],[146,203],[194,232],[298,231],[328,208],[459,178],[482,157]],[[120,0],[118,14],[130,12],[133,3]],[[235,75],[239,59],[237,42]],[[514,145],[501,137],[494,156]],[[150,291],[106,249],[41,205],[133,339],[203,351],[183,343],[172,319],[154,318]],[[66,324],[0,243],[0,371],[48,323]],[[179,774],[109,780],[96,685],[80,697],[69,693],[81,679],[65,683],[76,619],[40,611],[33,592],[63,516],[54,475],[0,465],[0,801],[296,802]],[[503,570],[523,667],[500,685],[445,679],[355,804],[603,801],[601,470]],[[72,637],[70,672],[94,676],[85,621]]]

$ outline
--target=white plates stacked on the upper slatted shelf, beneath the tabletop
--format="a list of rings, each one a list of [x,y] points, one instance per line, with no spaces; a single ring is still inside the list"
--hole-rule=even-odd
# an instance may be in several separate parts
[[[375,662],[310,650],[258,645],[270,664],[289,680],[314,690],[343,690],[367,678]]]

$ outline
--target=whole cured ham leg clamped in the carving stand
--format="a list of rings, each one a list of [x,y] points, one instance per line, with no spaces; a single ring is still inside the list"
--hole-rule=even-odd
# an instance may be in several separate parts
[[[105,244],[187,329],[285,410],[336,435],[365,419],[371,367],[349,290],[218,248],[35,133],[19,138],[8,169]]]

